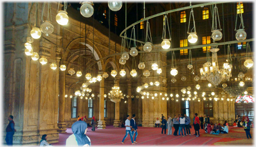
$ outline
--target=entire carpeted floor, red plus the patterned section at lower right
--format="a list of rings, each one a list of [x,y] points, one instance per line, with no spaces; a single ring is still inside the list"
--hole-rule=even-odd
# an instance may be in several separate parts
[[[124,141],[124,145],[121,144],[123,137],[125,136],[125,128],[114,128],[113,126],[107,126],[106,129],[95,129],[95,132],[91,131],[92,127],[88,128],[86,135],[90,137],[92,146],[102,145],[118,145],[126,146],[131,145],[130,136],[128,135]],[[172,134],[174,132],[172,127]],[[161,134],[162,129],[156,127],[138,127],[138,137],[136,141],[139,145],[253,145],[253,140],[247,140],[245,131],[243,128],[230,127],[228,134],[211,135],[206,134],[204,130],[200,129],[200,137],[195,137],[195,131],[192,126],[191,136],[173,136]],[[253,129],[252,131],[253,132]],[[67,129],[66,134],[60,134],[59,143],[52,145],[65,146],[66,139],[72,134],[71,128]],[[253,133],[251,133],[253,136]]]

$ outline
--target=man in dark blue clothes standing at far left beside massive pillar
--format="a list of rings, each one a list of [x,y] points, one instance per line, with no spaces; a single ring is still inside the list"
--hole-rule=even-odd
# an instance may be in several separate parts
[[[12,119],[13,119],[13,116],[10,115],[8,117],[9,124],[6,127],[6,144],[7,145],[12,145],[12,137],[14,135],[14,132],[16,132],[16,129],[14,129],[15,123]]]

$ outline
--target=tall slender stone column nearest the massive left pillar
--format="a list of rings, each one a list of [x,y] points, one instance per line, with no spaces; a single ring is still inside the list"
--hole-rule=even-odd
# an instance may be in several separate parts
[[[65,79],[66,70],[60,71],[60,96],[59,99],[59,113],[58,113],[58,132],[66,132],[66,122],[65,122]]]

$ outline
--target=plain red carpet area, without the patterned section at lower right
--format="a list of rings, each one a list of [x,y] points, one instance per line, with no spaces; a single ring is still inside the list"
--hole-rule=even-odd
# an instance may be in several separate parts
[[[102,145],[131,145],[130,135],[128,135],[124,141],[124,145],[121,144],[123,137],[125,136],[125,128],[115,128],[112,125],[107,126],[106,129],[95,129],[93,132],[92,127],[88,127],[88,132],[86,135],[91,140],[93,146],[102,146]],[[230,129],[233,129],[230,127]],[[172,127],[172,134],[174,132],[174,127]],[[136,141],[137,145],[213,145],[216,142],[221,140],[228,141],[228,137],[195,137],[195,130],[192,126],[191,136],[186,135],[182,136],[173,136],[161,134],[162,128],[158,127],[138,127],[138,136]],[[205,134],[203,129],[200,129],[200,135]],[[54,143],[52,145],[66,145],[66,139],[68,136],[72,135],[71,128],[67,129],[66,134],[59,134],[60,139],[59,143]],[[231,139],[234,140],[234,139]]]

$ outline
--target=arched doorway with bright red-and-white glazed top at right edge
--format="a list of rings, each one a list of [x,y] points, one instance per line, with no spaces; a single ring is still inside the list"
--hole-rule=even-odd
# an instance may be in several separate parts
[[[250,95],[243,94],[235,100],[235,112],[239,116],[248,116],[252,121],[254,119],[254,98]]]

